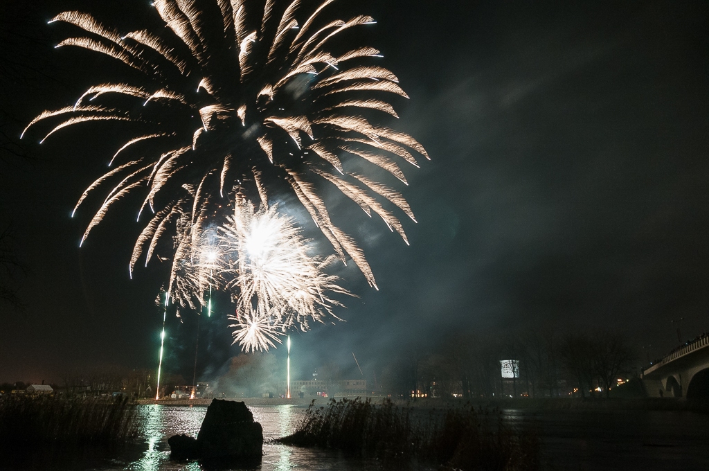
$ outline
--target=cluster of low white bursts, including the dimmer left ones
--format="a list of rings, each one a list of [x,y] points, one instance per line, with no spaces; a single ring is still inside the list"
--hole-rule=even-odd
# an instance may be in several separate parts
[[[289,328],[307,331],[312,322],[339,320],[335,297],[350,293],[328,274],[337,258],[312,255],[310,241],[277,206],[237,200],[223,226],[196,238],[186,222],[191,216],[181,219],[169,294],[180,306],[209,312],[212,289],[230,292],[236,306],[230,327],[242,350],[267,350]]]

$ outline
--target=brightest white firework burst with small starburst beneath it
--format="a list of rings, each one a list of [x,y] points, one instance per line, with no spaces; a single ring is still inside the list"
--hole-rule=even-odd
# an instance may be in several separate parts
[[[306,331],[311,321],[332,316],[335,294],[349,294],[339,278],[326,269],[334,257],[322,259],[308,253],[308,240],[289,216],[277,207],[255,209],[248,201],[235,205],[234,216],[220,228],[220,248],[229,268],[221,277],[237,305],[235,342],[264,348],[257,333],[276,335],[292,326]],[[273,338],[271,336],[270,338]],[[250,345],[250,346],[249,346]]]

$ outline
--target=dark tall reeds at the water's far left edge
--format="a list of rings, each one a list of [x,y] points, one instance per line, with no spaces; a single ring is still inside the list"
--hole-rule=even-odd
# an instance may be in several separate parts
[[[136,412],[128,399],[4,397],[0,446],[125,443],[137,436]]]

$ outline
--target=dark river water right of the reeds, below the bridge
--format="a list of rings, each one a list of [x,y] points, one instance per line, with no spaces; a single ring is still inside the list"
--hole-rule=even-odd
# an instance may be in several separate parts
[[[535,428],[549,470],[709,471],[709,414],[690,411],[507,409]]]

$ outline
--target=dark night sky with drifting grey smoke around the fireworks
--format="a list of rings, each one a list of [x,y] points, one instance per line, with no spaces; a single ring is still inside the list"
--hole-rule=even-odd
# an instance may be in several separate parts
[[[158,24],[145,0],[25,3],[0,6],[12,65],[2,125],[13,136],[121,72],[54,50],[72,33],[45,24],[55,13],[90,11],[121,31]],[[367,43],[411,96],[396,101],[392,125],[432,161],[406,170],[411,247],[364,218],[353,226],[380,290],[345,272],[359,299],[338,311],[346,323],[295,334],[303,372],[459,331],[613,328],[655,357],[677,343],[671,320],[683,318],[685,339],[708,329],[709,4],[367,0],[356,10],[378,21]],[[82,126],[26,143],[31,162],[0,162],[0,217],[27,271],[26,311],[0,306],[0,382],[57,379],[72,365],[155,367],[164,272],[128,279],[135,199],[81,250],[91,214],[69,218],[118,143],[110,126]],[[203,375],[238,353],[224,322],[201,326]],[[173,343],[193,348],[192,324],[169,323]]]

